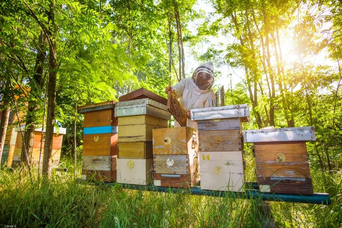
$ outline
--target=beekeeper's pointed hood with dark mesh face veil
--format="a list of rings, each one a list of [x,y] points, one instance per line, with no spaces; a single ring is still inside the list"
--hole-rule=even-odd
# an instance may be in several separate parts
[[[200,90],[209,90],[214,84],[214,65],[210,61],[196,68],[192,79]]]

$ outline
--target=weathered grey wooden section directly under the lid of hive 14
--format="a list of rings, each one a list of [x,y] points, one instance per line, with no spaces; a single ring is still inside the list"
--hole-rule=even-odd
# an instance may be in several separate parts
[[[239,118],[199,120],[198,131],[242,129]]]

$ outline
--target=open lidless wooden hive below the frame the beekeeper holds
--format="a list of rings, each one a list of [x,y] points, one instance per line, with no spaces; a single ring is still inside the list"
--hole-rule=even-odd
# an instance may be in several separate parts
[[[153,130],[154,185],[189,188],[199,181],[198,131]]]

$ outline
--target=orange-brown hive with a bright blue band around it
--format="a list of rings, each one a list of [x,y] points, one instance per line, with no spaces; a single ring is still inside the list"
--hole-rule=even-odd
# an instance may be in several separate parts
[[[116,101],[78,108],[84,113],[82,178],[105,182],[116,180],[118,121]]]

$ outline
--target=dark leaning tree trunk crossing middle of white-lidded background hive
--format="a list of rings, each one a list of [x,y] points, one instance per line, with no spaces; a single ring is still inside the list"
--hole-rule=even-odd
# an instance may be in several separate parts
[[[43,46],[43,32],[41,32],[39,36],[39,47],[37,48],[37,58],[36,58],[36,65],[35,65],[35,72],[33,75],[33,80],[30,81],[30,87],[31,87],[31,96],[34,99],[30,99],[28,102],[28,111],[27,111],[27,117],[26,117],[26,129],[24,134],[23,141],[25,142],[28,161],[31,164],[32,159],[32,149],[33,149],[33,143],[35,139],[35,110],[38,108],[36,100],[40,99],[41,97],[41,79],[43,75],[43,69],[44,69],[44,62],[45,62],[45,52],[42,50],[44,49]],[[21,153],[21,164],[26,164],[26,157],[25,157],[25,148],[22,148]]]

